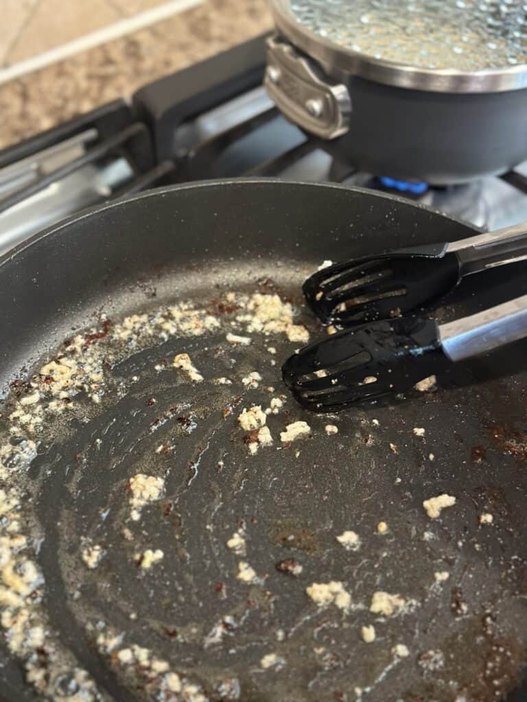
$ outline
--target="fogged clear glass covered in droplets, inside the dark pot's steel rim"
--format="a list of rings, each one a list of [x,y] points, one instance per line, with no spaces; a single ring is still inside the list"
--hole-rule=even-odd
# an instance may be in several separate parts
[[[527,62],[527,3],[519,0],[294,0],[299,23],[373,58],[477,71]]]

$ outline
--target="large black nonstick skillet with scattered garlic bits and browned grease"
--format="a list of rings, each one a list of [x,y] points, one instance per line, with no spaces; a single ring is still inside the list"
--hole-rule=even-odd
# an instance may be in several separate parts
[[[322,333],[299,290],[324,259],[471,233],[370,192],[238,181],[115,204],[1,260],[0,698],[486,702],[518,687],[527,345],[333,416],[280,381],[303,329]],[[525,294],[526,276],[494,270],[475,291],[438,318]],[[270,445],[240,426],[253,405],[271,410]],[[309,430],[282,442],[297,421]],[[455,505],[433,519],[422,502],[441,494]]]

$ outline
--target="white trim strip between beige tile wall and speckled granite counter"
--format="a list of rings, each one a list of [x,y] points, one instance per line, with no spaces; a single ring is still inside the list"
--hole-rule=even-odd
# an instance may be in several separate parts
[[[96,32],[85,34],[84,37],[68,41],[67,44],[57,46],[56,48],[50,49],[50,51],[45,51],[32,58],[19,61],[13,66],[0,69],[0,85],[20,78],[27,73],[37,71],[52,63],[62,61],[76,53],[86,51],[95,46],[100,46],[100,44],[105,44],[113,39],[119,39],[126,34],[137,32],[139,29],[149,27],[156,22],[190,10],[190,8],[201,5],[203,2],[204,0],[170,0],[155,8],[138,13],[133,17],[114,22],[112,25],[108,25],[108,27],[97,29]]]

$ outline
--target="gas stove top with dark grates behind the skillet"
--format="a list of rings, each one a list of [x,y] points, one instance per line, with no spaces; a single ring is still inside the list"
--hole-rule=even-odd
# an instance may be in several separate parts
[[[330,181],[396,192],[483,230],[527,220],[527,164],[467,185],[399,192],[344,161],[338,140],[289,124],[261,86],[266,37],[0,152],[0,253],[88,206],[208,178]]]

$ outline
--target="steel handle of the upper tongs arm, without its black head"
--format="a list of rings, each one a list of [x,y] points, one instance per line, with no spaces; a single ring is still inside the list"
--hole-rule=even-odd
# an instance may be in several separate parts
[[[527,260],[527,223],[453,241],[445,253],[457,253],[463,275]]]

